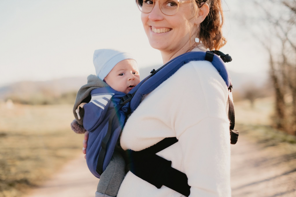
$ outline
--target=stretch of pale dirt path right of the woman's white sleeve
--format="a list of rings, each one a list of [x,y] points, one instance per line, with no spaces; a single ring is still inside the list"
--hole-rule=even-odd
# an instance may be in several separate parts
[[[296,153],[289,144],[255,143],[240,136],[231,146],[233,197],[295,197]]]

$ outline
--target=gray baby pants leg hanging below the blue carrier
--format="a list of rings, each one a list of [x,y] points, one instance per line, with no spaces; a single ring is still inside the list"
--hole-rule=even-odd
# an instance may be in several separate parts
[[[110,163],[100,176],[96,190],[96,197],[117,196],[119,187],[123,181],[126,163],[118,151],[114,151]]]

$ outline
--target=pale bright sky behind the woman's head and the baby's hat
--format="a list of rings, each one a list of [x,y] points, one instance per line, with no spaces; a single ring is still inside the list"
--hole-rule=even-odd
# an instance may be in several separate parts
[[[220,51],[232,56],[231,71],[266,72],[266,54],[237,25],[238,1],[224,2],[228,43]],[[93,53],[102,48],[133,54],[139,68],[161,66],[140,15],[134,0],[1,0],[0,86],[95,74]]]

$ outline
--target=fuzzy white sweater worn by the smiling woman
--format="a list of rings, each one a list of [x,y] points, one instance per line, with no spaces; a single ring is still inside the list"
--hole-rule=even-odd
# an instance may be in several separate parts
[[[149,93],[120,138],[140,151],[167,137],[179,140],[157,155],[172,161],[191,186],[189,197],[230,197],[228,88],[208,61],[192,61]],[[128,172],[118,197],[180,197],[180,193]]]

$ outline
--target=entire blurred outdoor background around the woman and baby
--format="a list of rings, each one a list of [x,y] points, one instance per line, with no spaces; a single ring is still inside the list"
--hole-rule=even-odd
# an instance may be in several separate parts
[[[223,9],[240,132],[232,196],[296,196],[296,1]],[[162,65],[140,14],[133,0],[0,1],[0,197],[94,196],[83,135],[70,129],[75,96],[96,49],[133,54],[142,79]]]

